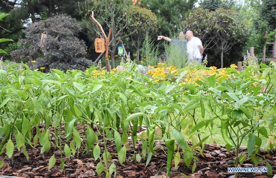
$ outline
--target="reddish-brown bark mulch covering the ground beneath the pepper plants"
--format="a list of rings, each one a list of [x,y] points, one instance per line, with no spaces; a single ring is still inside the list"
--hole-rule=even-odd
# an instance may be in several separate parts
[[[79,132],[82,136],[83,127],[78,126]],[[97,131],[96,128],[93,128],[95,132]],[[35,129],[34,129],[35,130]],[[141,131],[141,130],[140,130]],[[64,134],[64,133],[63,133]],[[54,135],[51,136],[52,140],[54,141]],[[64,139],[64,137],[62,137]],[[85,136],[82,136],[85,141]],[[2,139],[1,139],[2,140]],[[64,139],[65,140],[65,139]],[[99,146],[101,150],[104,150],[103,140],[99,138]],[[15,144],[15,143],[14,143]],[[111,140],[108,142],[109,145],[114,145],[109,147],[108,152],[116,153],[116,146],[115,142]],[[123,165],[120,165],[117,156],[112,156],[114,163],[116,164],[116,171],[117,171],[117,178],[124,178],[124,177],[156,177],[157,172],[159,174],[157,177],[165,178],[166,177],[166,164],[167,164],[167,155],[164,153],[163,150],[166,150],[165,144],[163,141],[155,142],[155,147],[159,147],[162,149],[156,150],[156,157],[152,156],[151,162],[145,168],[146,160],[141,160],[140,163],[135,164],[134,160],[131,158],[133,154],[133,146],[132,142],[129,140],[126,145],[129,145],[127,149],[127,156],[126,160]],[[138,140],[136,144],[136,149],[139,147],[139,150],[142,150],[142,143]],[[36,149],[26,146],[27,152],[29,153],[29,162],[23,155],[22,151],[18,151],[17,149],[14,150],[14,164],[12,164],[11,158],[6,158],[4,161],[3,168],[0,169],[0,175],[2,176],[16,176],[16,177],[35,177],[35,178],[42,178],[42,177],[78,177],[78,178],[85,178],[85,177],[105,177],[105,172],[98,176],[96,173],[96,165],[98,164],[98,160],[94,160],[93,156],[90,156],[86,151],[84,151],[85,145],[79,149],[79,152],[76,152],[75,157],[71,156],[65,162],[65,169],[60,170],[58,165],[60,164],[60,156],[59,149],[56,147],[52,147],[50,152],[40,154],[41,146],[37,144]],[[180,152],[181,150],[179,150]],[[55,153],[56,156],[56,164],[50,170],[48,167],[48,160],[50,157]],[[239,154],[243,154],[246,152],[246,149],[240,149]],[[196,162],[197,168],[194,173],[192,173],[192,165],[187,168],[183,159],[180,160],[180,163],[177,167],[172,167],[171,176],[173,178],[183,177],[181,173],[186,174],[189,177],[233,177],[233,173],[228,173],[228,167],[234,167],[233,160],[235,160],[235,152],[231,150],[227,152],[225,147],[217,145],[215,142],[213,144],[206,144],[205,151],[203,152],[204,157],[201,156],[199,152],[196,152],[196,156],[199,159]],[[182,158],[182,153],[180,154]],[[276,174],[276,150],[273,150],[273,153],[267,154],[267,152],[260,152],[260,163],[258,167],[266,167],[265,161],[262,162],[263,157],[267,159],[267,161],[272,165],[273,175]],[[0,156],[2,160],[6,156],[6,153],[3,153]],[[146,157],[147,159],[147,157]],[[174,163],[174,161],[173,161]],[[249,159],[245,160],[243,165],[239,167],[253,167],[251,161]],[[178,173],[177,173],[178,172]],[[258,178],[268,178],[269,176],[266,173],[240,173],[239,177],[258,177]]]

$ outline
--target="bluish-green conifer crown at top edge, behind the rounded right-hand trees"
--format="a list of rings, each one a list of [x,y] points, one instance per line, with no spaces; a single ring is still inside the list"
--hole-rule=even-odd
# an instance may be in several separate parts
[[[214,11],[218,8],[220,9],[231,9],[234,5],[233,0],[203,0],[199,3],[199,6],[203,9],[208,9],[209,11]]]

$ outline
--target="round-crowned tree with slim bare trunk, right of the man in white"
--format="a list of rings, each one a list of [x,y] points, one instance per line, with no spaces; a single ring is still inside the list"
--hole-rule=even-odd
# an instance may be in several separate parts
[[[223,68],[223,54],[246,36],[243,18],[234,10],[217,9],[213,11],[216,21],[216,38],[214,42],[220,50],[220,65]]]

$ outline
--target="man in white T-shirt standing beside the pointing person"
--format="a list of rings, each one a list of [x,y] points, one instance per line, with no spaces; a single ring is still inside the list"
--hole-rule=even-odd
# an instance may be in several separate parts
[[[189,62],[196,60],[198,63],[201,63],[203,46],[200,39],[197,37],[194,37],[194,32],[192,30],[188,30],[186,32],[186,37],[189,40],[187,43],[187,54],[188,54]]]

